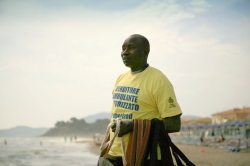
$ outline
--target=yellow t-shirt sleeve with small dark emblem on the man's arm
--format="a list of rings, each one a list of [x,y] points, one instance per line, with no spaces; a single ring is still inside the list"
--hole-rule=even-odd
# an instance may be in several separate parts
[[[161,118],[182,114],[171,83],[159,87],[154,96]]]

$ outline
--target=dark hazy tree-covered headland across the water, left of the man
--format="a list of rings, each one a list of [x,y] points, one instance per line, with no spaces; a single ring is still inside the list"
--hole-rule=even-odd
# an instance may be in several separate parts
[[[70,121],[58,121],[43,136],[89,136],[94,133],[105,133],[109,119],[99,119],[94,123],[86,123],[84,119],[71,118]]]

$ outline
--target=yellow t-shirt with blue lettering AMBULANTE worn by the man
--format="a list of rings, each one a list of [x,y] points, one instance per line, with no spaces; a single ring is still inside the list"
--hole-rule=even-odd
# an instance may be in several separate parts
[[[181,114],[174,89],[168,78],[158,69],[147,67],[135,75],[130,71],[120,75],[113,89],[112,118],[122,120],[165,118]],[[110,131],[111,138],[113,132]],[[125,147],[129,134],[124,135]],[[109,151],[112,156],[122,156],[119,137]]]

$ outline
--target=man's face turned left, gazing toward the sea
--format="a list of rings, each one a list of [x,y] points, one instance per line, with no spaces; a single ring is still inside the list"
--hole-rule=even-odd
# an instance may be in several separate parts
[[[147,63],[147,55],[142,43],[135,37],[129,37],[124,41],[121,57],[125,66],[131,68],[131,71],[140,70]]]

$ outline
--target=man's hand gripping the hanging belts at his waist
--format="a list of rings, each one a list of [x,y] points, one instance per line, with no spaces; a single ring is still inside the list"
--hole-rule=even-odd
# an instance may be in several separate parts
[[[112,131],[115,132],[116,124],[114,124],[111,127]],[[134,121],[121,121],[120,123],[120,132],[118,134],[118,137],[122,137],[125,134],[128,134],[129,132],[133,131],[134,129]]]

